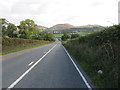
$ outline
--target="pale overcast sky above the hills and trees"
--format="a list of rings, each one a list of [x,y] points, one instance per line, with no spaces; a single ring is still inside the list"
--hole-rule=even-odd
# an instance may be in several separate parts
[[[120,0],[0,0],[0,18],[19,25],[32,19],[36,24],[102,25],[118,24]]]

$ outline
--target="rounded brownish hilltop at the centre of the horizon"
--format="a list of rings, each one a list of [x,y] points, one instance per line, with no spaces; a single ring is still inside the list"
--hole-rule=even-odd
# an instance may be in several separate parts
[[[69,29],[69,28],[73,28],[75,26],[70,25],[70,24],[56,24],[52,27],[49,28],[49,30],[63,30],[63,29]]]

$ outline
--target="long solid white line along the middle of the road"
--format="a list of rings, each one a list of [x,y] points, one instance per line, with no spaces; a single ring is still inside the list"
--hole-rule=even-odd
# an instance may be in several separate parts
[[[47,54],[49,54],[55,48],[56,45],[54,45],[48,52],[46,52],[46,54],[44,54],[36,63],[34,63],[25,73],[23,73],[16,81],[14,81],[6,90],[10,90],[17,83],[19,83],[19,81],[21,81],[22,78],[25,77],[25,75],[27,75]]]

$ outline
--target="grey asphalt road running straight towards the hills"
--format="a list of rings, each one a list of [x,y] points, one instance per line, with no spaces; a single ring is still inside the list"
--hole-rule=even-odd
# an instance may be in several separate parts
[[[59,41],[2,61],[3,88],[88,88],[84,79]]]

